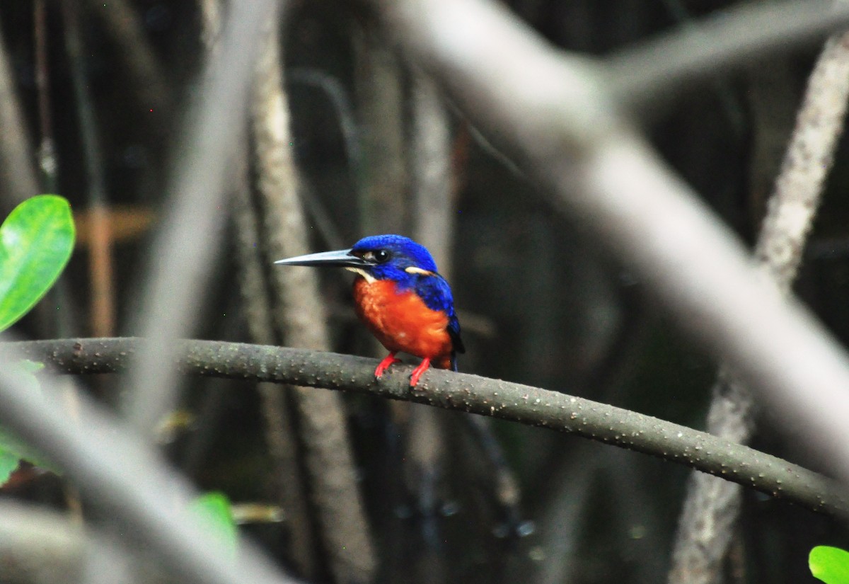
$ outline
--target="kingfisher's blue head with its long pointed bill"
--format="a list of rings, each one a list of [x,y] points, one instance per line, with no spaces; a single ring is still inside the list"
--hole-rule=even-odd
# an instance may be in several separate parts
[[[436,262],[424,245],[402,235],[373,235],[360,239],[350,250],[299,255],[274,263],[346,267],[367,280],[391,279],[402,287],[412,285],[417,274],[436,273]]]

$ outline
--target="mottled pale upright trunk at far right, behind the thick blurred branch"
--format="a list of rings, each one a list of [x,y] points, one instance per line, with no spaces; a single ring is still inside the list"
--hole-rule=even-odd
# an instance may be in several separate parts
[[[755,255],[788,293],[843,132],[849,99],[849,33],[825,44],[808,80],[781,172],[775,183]],[[748,441],[752,397],[733,373],[722,371],[713,390],[708,431]],[[722,565],[739,514],[740,487],[694,473],[672,553],[671,584],[722,581]]]

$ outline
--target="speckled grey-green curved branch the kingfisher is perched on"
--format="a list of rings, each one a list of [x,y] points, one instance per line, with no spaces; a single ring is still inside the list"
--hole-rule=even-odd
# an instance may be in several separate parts
[[[65,373],[120,373],[138,346],[139,340],[131,338],[37,340],[0,345],[0,356],[8,347]],[[375,381],[374,359],[207,340],[181,342],[175,361],[187,374],[356,391],[581,435],[681,463],[815,511],[844,516],[849,512],[840,486],[796,464],[705,432],[557,391],[438,369],[430,369],[411,390],[408,366],[394,366]]]

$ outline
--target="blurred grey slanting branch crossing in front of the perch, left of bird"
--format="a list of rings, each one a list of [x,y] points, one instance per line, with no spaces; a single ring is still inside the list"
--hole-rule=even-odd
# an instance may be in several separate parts
[[[211,55],[199,101],[188,111],[183,144],[175,149],[166,216],[153,242],[147,278],[139,286],[142,310],[134,329],[149,344],[130,376],[125,410],[146,435],[175,399],[176,377],[162,359],[172,342],[194,325],[205,282],[218,252],[226,213],[222,210],[228,160],[244,128],[250,80],[260,46],[261,25],[275,21],[277,0],[234,3],[222,27],[220,50]]]

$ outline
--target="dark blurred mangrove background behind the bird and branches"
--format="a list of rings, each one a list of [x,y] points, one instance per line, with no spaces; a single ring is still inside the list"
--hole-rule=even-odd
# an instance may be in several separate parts
[[[556,46],[604,55],[731,4],[514,0],[509,8]],[[10,118],[0,118],[0,139],[4,149],[28,156],[34,177],[27,182],[20,167],[0,168],[0,206],[6,213],[22,198],[62,194],[79,229],[61,284],[18,334],[138,333],[133,311],[167,178],[180,160],[177,134],[215,43],[210,6],[0,6],[8,66],[0,99],[3,107],[16,101],[22,121],[15,133]],[[197,337],[298,344],[280,323],[285,317],[264,333],[250,322],[257,295],[272,312],[285,304],[270,262],[282,257],[278,250],[295,248],[278,247],[275,237],[303,233],[306,252],[402,233],[434,252],[453,286],[467,348],[461,371],[705,427],[716,364],[678,336],[627,266],[552,211],[537,185],[392,51],[367,8],[293,2],[279,32],[273,65],[290,112],[285,180],[299,210],[275,221],[299,227],[267,227],[266,214],[278,207],[262,194],[262,138],[248,132],[233,147],[233,204],[221,209],[228,234],[214,286],[198,299],[204,317]],[[747,242],[756,236],[820,47],[717,76],[643,121],[669,164]],[[796,285],[844,341],[847,158],[841,144]],[[382,356],[351,311],[350,274],[318,277],[304,290],[323,307],[314,317],[316,326],[326,322],[328,347]],[[104,401],[118,401],[120,377],[82,381]],[[311,496],[314,474],[323,471],[307,468],[311,430],[298,398],[275,388],[284,398],[274,401],[267,389],[213,379],[188,380],[186,389],[160,430],[173,463],[201,489],[259,505],[253,514],[242,508],[245,532],[286,569],[307,581],[342,581],[329,567],[321,534],[328,526],[318,521],[321,503]],[[666,579],[687,469],[548,430],[469,423],[460,413],[364,396],[344,396],[342,407],[379,565],[375,581]],[[269,422],[273,412],[285,423]],[[752,446],[812,467],[787,435],[759,418]],[[66,504],[61,480],[39,469],[20,469],[4,491]],[[807,552],[817,544],[849,547],[849,533],[834,519],[746,491],[728,581],[813,581]]]

